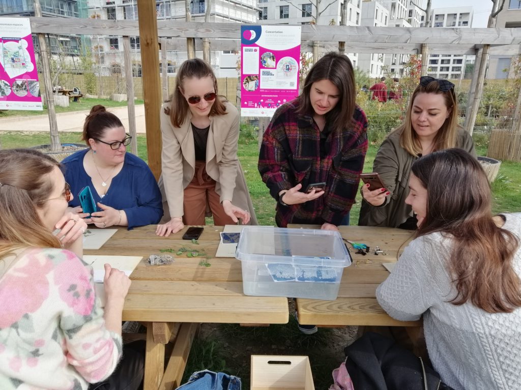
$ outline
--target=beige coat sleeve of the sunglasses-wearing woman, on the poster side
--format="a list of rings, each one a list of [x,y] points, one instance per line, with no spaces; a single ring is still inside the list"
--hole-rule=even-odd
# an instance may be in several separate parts
[[[233,115],[233,119],[230,118],[229,129],[222,129],[222,131],[228,130],[228,135],[222,146],[221,159],[218,162],[221,202],[224,200],[232,201],[233,199],[233,190],[235,189],[235,179],[237,178],[239,165],[237,160],[239,112],[231,104],[227,104],[227,111],[227,115]],[[226,123],[228,123],[228,121]],[[214,131],[221,131],[221,129],[214,129]]]

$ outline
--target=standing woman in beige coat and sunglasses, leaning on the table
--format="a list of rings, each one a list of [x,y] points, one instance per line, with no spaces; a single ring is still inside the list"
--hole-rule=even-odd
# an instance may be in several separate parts
[[[217,79],[205,61],[184,61],[171,102],[161,112],[162,177],[165,224],[156,234],[168,237],[184,225],[256,224],[246,180],[237,159],[239,113],[217,94]],[[166,202],[165,202],[166,200]],[[165,204],[167,203],[167,204]],[[169,210],[169,213],[166,212]]]

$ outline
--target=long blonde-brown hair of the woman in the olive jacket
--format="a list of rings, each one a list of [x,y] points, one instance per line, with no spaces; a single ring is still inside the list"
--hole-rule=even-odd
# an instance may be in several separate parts
[[[405,120],[395,129],[395,132],[400,134],[400,146],[414,156],[422,153],[420,141],[411,121],[414,99],[421,93],[443,95],[445,107],[451,111],[439,129],[438,134],[436,134],[432,151],[457,147],[457,132],[461,126],[457,124],[458,108],[454,88],[448,91],[442,91],[436,80],[431,81],[427,86],[419,84],[414,90],[409,105],[407,106],[407,111],[405,112]]]

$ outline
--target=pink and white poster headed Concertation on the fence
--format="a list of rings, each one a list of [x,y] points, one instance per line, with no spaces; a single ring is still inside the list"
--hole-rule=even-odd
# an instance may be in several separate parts
[[[299,95],[299,26],[241,26],[241,116],[272,116]]]

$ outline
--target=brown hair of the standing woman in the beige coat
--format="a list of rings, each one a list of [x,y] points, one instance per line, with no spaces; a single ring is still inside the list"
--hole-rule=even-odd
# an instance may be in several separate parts
[[[165,107],[165,114],[170,115],[170,121],[173,127],[181,127],[185,119],[187,118],[188,106],[187,99],[184,98],[181,89],[183,88],[183,82],[185,79],[203,79],[203,77],[212,77],[214,81],[214,92],[217,92],[217,79],[215,78],[214,71],[206,61],[199,58],[192,58],[184,61],[176,76],[176,89],[173,91],[170,97],[170,107]],[[224,102],[227,101],[224,96],[218,96],[215,99],[212,108],[210,109],[209,116],[224,115],[226,114],[226,106]]]

